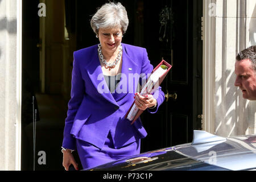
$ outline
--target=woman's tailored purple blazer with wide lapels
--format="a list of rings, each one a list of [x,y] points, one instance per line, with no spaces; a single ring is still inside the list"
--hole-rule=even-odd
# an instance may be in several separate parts
[[[141,119],[138,118],[131,125],[125,115],[133,104],[134,93],[137,92],[138,75],[151,73],[153,66],[148,60],[145,48],[123,43],[122,46],[122,76],[119,88],[116,89],[116,92],[121,92],[118,92],[115,99],[104,80],[97,45],[74,52],[71,100],[68,102],[64,127],[64,148],[76,150],[76,139],[102,148],[109,131],[115,148],[146,137],[147,132]],[[160,86],[153,96],[158,105],[154,111],[148,109],[150,113],[156,113],[164,101]]]

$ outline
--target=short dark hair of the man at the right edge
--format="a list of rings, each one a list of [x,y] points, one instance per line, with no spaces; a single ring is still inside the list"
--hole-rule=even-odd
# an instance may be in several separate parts
[[[243,59],[250,59],[251,63],[253,63],[253,68],[256,70],[256,46],[246,48],[237,54],[237,61],[241,61]]]

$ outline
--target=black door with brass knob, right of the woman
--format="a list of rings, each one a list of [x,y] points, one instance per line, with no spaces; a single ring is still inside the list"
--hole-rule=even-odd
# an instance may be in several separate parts
[[[144,46],[151,63],[164,59],[172,65],[162,90],[168,99],[158,113],[143,113],[148,136],[142,151],[192,142],[193,130],[201,130],[203,113],[203,1],[144,3]]]

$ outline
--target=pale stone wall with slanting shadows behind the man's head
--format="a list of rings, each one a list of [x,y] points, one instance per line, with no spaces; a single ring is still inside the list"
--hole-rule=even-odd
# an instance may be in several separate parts
[[[205,70],[213,69],[204,75],[205,130],[222,137],[254,134],[256,101],[243,99],[241,91],[234,86],[234,63],[238,52],[255,45],[256,1],[206,0],[204,9],[204,31],[213,29],[204,33]],[[214,14],[209,17],[212,9]],[[208,61],[212,68],[207,67]],[[212,87],[207,81],[212,82]],[[210,97],[208,92],[212,92]],[[206,105],[212,105],[212,110]]]

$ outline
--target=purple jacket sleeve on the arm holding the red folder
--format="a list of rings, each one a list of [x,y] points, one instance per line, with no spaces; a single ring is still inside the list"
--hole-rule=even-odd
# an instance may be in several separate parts
[[[153,71],[153,66],[150,64],[150,60],[148,60],[147,51],[144,49],[143,51],[143,61],[142,61],[142,70],[141,73],[151,73]],[[161,86],[158,87],[158,89],[155,90],[154,93],[152,93],[153,97],[157,101],[157,105],[154,109],[147,109],[149,113],[156,113],[158,111],[159,106],[164,101],[164,93],[162,91]]]

